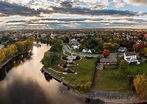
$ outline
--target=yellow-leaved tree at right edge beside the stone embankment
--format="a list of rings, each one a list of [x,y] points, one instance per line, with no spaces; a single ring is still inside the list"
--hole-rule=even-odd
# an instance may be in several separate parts
[[[145,75],[136,75],[133,83],[139,98],[144,99],[145,97],[147,97],[147,78],[145,77]]]

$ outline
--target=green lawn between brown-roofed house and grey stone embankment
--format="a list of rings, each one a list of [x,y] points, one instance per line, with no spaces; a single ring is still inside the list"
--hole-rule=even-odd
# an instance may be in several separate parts
[[[129,83],[114,69],[97,70],[93,89],[107,91],[129,91]]]

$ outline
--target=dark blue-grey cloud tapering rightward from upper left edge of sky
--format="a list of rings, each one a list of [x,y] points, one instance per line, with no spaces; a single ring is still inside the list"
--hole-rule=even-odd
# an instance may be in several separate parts
[[[0,1],[0,13],[3,15],[34,16],[39,15],[41,12],[42,10],[34,10],[25,6]]]

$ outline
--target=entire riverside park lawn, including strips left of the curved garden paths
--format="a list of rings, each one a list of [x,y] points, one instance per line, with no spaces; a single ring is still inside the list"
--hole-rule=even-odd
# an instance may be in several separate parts
[[[92,80],[93,72],[95,69],[95,64],[94,64],[95,61],[96,61],[96,58],[92,58],[92,59],[83,58],[81,61],[77,61],[79,66],[69,67],[70,69],[74,70],[77,74],[63,75],[63,74],[57,74],[51,70],[49,71],[52,74],[57,75],[57,77],[64,77],[64,79],[67,82],[72,83],[74,85],[86,83]],[[64,62],[61,59],[57,59],[54,62],[54,64],[52,64],[52,68],[59,71],[58,69],[59,67],[57,66],[57,64],[59,63],[62,64]]]

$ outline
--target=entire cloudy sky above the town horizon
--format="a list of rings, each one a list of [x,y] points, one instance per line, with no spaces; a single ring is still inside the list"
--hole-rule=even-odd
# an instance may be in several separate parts
[[[147,0],[0,0],[0,30],[147,29]]]

